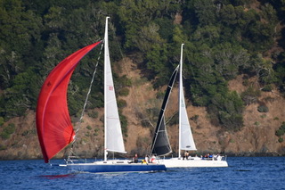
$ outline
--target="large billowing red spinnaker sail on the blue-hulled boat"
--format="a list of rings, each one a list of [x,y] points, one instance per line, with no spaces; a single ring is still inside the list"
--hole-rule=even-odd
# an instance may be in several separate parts
[[[74,140],[75,132],[69,117],[67,89],[78,62],[97,42],[70,54],[45,79],[37,100],[37,136],[45,162]]]

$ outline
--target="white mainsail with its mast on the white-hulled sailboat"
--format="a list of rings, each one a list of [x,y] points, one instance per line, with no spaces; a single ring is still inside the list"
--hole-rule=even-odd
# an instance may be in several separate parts
[[[183,93],[183,44],[181,45],[180,71],[179,71],[179,157],[181,150],[196,151],[196,145],[191,133],[190,123],[186,111],[186,104]]]

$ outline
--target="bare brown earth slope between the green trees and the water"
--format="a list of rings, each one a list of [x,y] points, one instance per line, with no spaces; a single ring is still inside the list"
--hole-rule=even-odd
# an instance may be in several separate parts
[[[125,137],[126,156],[132,156],[134,153],[148,153],[151,145],[151,132],[155,127],[155,121],[147,116],[148,109],[160,107],[162,99],[157,99],[158,91],[154,90],[151,82],[142,78],[141,70],[138,70],[131,59],[126,58],[124,62],[118,62],[120,68],[124,70],[121,75],[127,75],[135,85],[130,88],[130,93],[123,98],[127,101],[127,106],[123,109],[123,114],[127,118],[127,137]],[[250,78],[254,83],[256,78]],[[242,76],[229,82],[229,88],[241,93],[246,89],[242,85]],[[163,92],[165,87],[159,89]],[[172,116],[177,109],[175,100],[177,98],[177,90],[174,89],[171,100],[169,101],[167,117]],[[225,153],[228,155],[285,155],[285,142],[279,143],[278,136],[275,131],[281,126],[282,119],[285,118],[285,99],[278,94],[276,90],[272,92],[262,92],[259,102],[263,102],[269,109],[269,112],[258,112],[258,103],[248,105],[243,113],[244,127],[237,132],[228,132],[221,127],[213,126],[208,120],[206,108],[195,107],[188,102],[189,118],[199,116],[197,120],[190,120],[191,129],[194,140],[198,149],[198,153]],[[103,128],[102,109],[97,110],[99,116],[96,119],[89,118],[85,114],[84,122],[79,129],[77,135],[77,143],[75,144],[75,152],[82,157],[99,158],[102,157],[103,150]],[[146,116],[145,118],[138,117]],[[150,120],[153,127],[142,127],[142,120]],[[35,112],[26,112],[25,117],[18,117],[9,120],[4,126],[14,123],[19,128],[7,140],[2,140],[0,159],[41,159],[41,151],[37,141],[37,133],[35,126]],[[91,126],[92,129],[88,129]],[[150,125],[151,126],[151,125]],[[0,133],[3,128],[0,129]],[[172,147],[177,149],[177,126],[168,126],[168,135]],[[95,131],[95,132],[94,132]],[[94,135],[96,133],[96,135]],[[57,155],[61,158],[64,154],[69,153],[69,147],[61,151]]]

